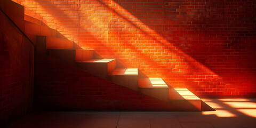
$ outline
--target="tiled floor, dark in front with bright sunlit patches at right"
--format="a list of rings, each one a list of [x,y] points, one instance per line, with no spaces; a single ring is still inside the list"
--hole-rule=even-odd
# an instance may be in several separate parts
[[[13,127],[256,127],[256,99],[202,99],[215,111],[34,111]]]

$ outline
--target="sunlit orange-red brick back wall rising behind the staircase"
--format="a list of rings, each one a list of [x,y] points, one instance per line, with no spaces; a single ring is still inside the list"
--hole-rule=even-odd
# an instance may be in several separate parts
[[[86,49],[197,95],[256,93],[253,0],[15,0]]]

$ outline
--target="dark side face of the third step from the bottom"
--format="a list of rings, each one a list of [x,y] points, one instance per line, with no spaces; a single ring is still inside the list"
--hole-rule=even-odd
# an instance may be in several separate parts
[[[109,76],[111,82],[138,91],[138,76]]]

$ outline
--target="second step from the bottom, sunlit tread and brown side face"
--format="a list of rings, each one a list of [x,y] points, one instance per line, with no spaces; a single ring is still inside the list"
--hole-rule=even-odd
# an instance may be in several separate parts
[[[141,93],[169,102],[169,87],[162,78],[139,78],[138,86]]]

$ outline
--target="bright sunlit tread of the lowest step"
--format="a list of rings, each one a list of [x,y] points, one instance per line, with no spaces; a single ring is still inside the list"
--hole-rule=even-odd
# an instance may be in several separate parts
[[[186,88],[176,88],[176,89],[174,88],[174,90],[176,90],[181,95],[181,97],[182,97],[181,99],[201,100],[200,98],[198,98],[195,94],[193,94]]]

